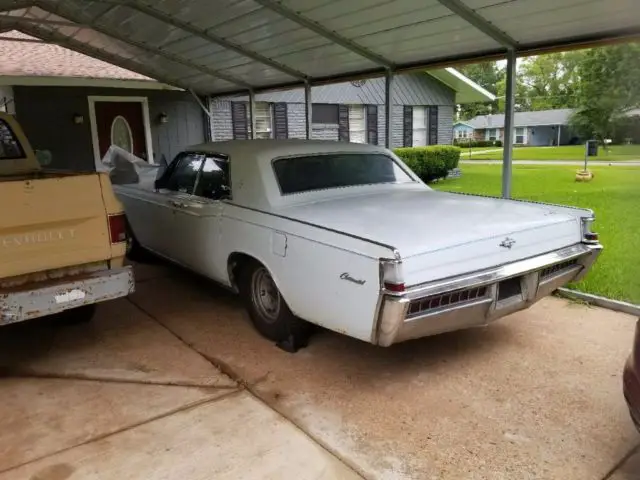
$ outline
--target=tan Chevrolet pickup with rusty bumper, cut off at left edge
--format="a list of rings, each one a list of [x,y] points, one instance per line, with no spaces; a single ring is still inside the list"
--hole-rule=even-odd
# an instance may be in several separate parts
[[[90,320],[133,292],[122,205],[106,173],[43,168],[0,112],[0,325],[55,314]]]

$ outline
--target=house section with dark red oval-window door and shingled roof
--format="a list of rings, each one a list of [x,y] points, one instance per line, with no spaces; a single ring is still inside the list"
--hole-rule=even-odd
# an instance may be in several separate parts
[[[18,117],[34,148],[51,152],[54,168],[91,169],[112,143],[171,160],[207,138],[206,115],[188,92],[19,32],[2,37],[0,109]]]

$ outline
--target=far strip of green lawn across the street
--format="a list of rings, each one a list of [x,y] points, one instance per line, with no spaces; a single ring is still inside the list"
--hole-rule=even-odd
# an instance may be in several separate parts
[[[479,150],[495,150],[490,153],[469,155],[469,149],[462,149],[461,160],[502,160],[502,148],[472,148],[472,153]],[[514,160],[584,160],[584,145],[563,145],[560,147],[514,147]],[[598,148],[597,157],[590,160],[619,161],[640,160],[640,145],[613,145],[607,154],[602,147]]]

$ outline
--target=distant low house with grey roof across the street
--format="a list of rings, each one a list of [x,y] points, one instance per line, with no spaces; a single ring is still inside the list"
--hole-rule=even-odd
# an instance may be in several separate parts
[[[569,127],[573,110],[540,110],[516,112],[514,118],[514,145],[551,146],[577,142]],[[467,121],[474,128],[475,140],[503,140],[504,114],[479,115]]]

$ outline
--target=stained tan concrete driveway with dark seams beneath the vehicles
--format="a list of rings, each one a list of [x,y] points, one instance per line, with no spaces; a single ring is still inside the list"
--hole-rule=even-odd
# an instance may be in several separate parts
[[[163,265],[93,325],[3,330],[0,479],[640,479],[632,317],[550,298],[491,327],[291,355]],[[266,460],[265,460],[266,459]]]

